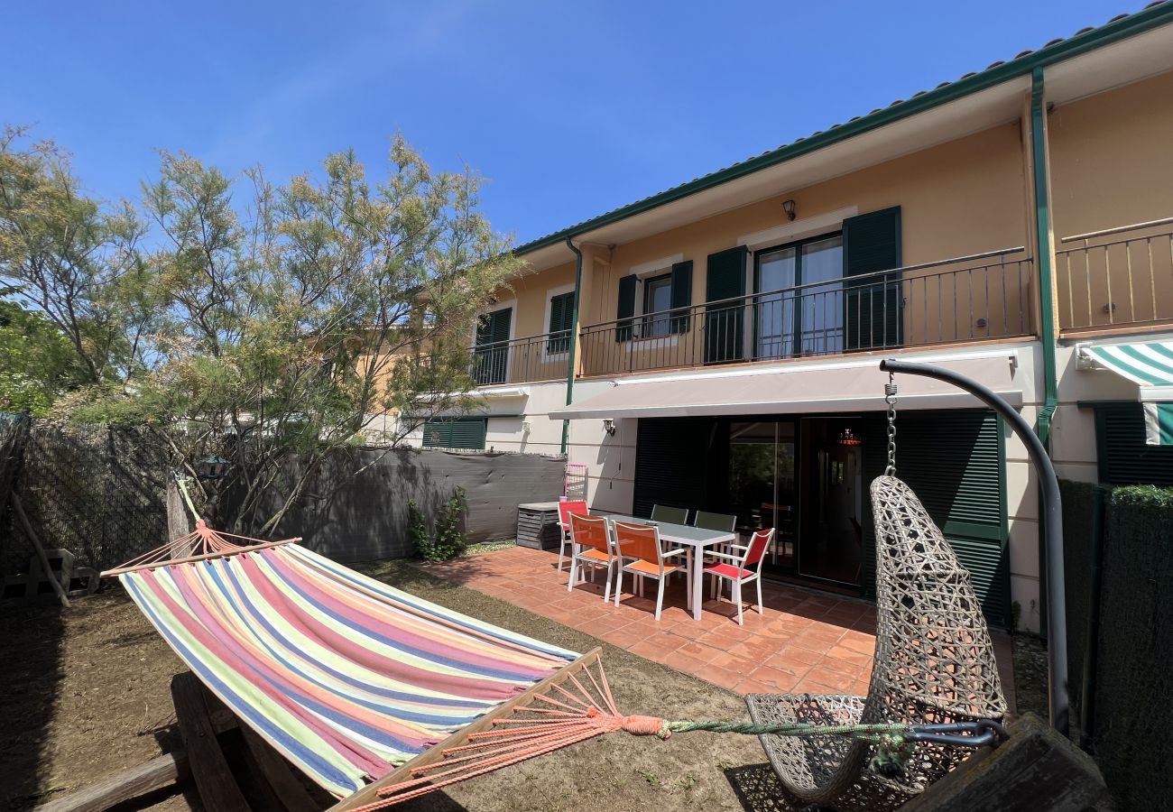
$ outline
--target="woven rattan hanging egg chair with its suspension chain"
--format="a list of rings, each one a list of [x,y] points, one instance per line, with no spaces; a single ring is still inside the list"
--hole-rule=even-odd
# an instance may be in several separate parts
[[[895,385],[886,393],[888,469],[872,483],[876,650],[868,695],[751,693],[746,704],[755,723],[1001,722],[1006,712],[969,573],[913,490],[894,475]],[[794,797],[843,811],[896,808],[970,755],[917,742],[893,769],[872,763],[874,745],[839,737],[762,736],[761,744]]]

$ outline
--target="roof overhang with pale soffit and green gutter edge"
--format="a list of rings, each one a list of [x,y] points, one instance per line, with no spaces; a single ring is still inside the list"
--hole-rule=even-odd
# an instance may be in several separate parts
[[[1173,70],[1171,18],[1173,4],[1146,8],[533,241],[518,253],[531,271],[544,270],[574,259],[567,237],[628,243],[1017,120],[1036,67],[1047,68],[1049,103]]]

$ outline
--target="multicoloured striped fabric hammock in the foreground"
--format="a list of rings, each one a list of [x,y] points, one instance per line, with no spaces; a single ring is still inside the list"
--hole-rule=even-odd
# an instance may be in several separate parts
[[[578,656],[296,543],[239,550],[110,574],[212,692],[339,798]]]

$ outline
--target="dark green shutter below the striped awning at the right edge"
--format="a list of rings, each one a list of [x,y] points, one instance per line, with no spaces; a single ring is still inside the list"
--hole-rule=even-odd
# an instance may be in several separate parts
[[[1173,447],[1145,445],[1139,402],[1097,404],[1096,446],[1101,482],[1173,486]]]

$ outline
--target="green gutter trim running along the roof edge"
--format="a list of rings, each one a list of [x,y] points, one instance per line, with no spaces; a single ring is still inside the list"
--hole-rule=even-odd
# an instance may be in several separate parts
[[[888,107],[877,108],[866,116],[856,116],[845,123],[832,124],[826,130],[799,138],[778,149],[762,153],[724,169],[718,169],[708,175],[703,175],[687,183],[672,187],[651,197],[644,197],[635,203],[612,209],[561,231],[538,237],[523,245],[518,245],[514,249],[514,253],[524,255],[563,243],[586,231],[617,223],[633,215],[650,211],[651,209],[689,197],[699,191],[705,191],[706,189],[712,189],[728,181],[752,175],[758,170],[785,163],[800,155],[847,141],[886,124],[947,104],[979,90],[985,90],[1011,79],[1030,75],[1037,67],[1079,56],[1089,50],[1103,48],[1104,46],[1141,34],[1169,21],[1173,21],[1173,0],[1158,0],[1133,14],[1114,16],[1103,26],[1083,28],[1066,39],[1051,40],[1038,50],[1024,50],[1009,61],[994,62],[985,70],[965,74],[952,82],[943,82],[931,90],[921,90],[909,99],[897,99]]]

